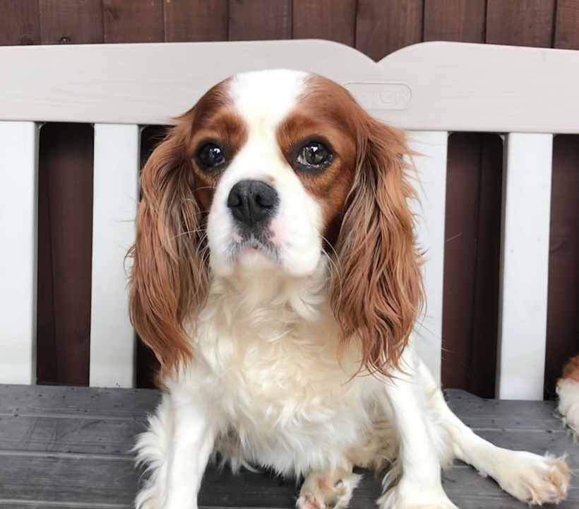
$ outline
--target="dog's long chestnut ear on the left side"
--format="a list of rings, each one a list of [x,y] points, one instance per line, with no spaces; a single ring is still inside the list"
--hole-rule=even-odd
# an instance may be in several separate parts
[[[208,287],[208,268],[201,256],[204,220],[193,194],[186,136],[183,127],[174,127],[141,172],[131,253],[131,320],[155,352],[162,374],[190,360],[182,322],[202,305]]]

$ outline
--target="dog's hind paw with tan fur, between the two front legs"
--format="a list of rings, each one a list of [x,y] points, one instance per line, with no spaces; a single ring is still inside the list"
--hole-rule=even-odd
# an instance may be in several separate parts
[[[345,509],[361,478],[352,469],[311,472],[299,491],[297,509]]]

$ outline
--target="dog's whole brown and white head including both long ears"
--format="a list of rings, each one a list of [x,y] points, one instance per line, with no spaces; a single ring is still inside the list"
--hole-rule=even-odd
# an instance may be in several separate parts
[[[211,279],[307,279],[332,257],[342,345],[388,373],[422,299],[406,155],[401,131],[319,76],[251,72],[209,90],[141,175],[131,317],[162,366],[189,360],[182,323]]]

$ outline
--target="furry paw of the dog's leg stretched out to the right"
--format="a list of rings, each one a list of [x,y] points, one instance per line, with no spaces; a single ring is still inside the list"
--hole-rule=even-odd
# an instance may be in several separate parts
[[[532,452],[511,452],[500,470],[496,480],[501,488],[528,504],[559,503],[566,497],[571,479],[564,457]]]

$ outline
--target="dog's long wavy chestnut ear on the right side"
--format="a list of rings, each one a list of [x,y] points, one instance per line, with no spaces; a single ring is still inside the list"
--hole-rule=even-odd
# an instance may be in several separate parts
[[[346,341],[359,341],[362,365],[389,375],[422,305],[421,257],[408,201],[405,134],[364,115],[354,184],[336,245],[341,279],[331,300]]]

